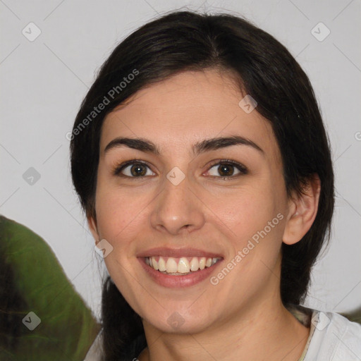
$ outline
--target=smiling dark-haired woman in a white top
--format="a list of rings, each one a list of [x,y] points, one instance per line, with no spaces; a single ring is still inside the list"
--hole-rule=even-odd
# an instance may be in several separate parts
[[[299,306],[334,173],[310,81],[271,35],[178,11],[140,27],[82,102],[71,169],[109,271],[102,360],[361,357],[361,326]]]

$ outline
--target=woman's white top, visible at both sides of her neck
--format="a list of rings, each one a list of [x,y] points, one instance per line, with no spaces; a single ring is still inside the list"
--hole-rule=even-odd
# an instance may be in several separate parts
[[[302,306],[293,306],[290,312],[302,324],[310,327],[310,336],[299,361],[361,361],[360,324],[350,322],[335,312],[322,312]],[[102,331],[84,361],[100,361],[101,355]]]

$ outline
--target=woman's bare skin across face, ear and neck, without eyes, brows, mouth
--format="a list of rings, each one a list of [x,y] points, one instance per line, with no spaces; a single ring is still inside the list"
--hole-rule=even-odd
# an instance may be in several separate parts
[[[312,226],[319,180],[305,195],[288,198],[281,154],[270,123],[257,108],[238,105],[241,94],[231,75],[215,69],[183,72],[133,95],[106,116],[100,140],[95,210],[88,218],[96,241],[113,251],[104,258],[114,283],[142,317],[148,348],[144,360],[296,361],[310,329],[283,307],[280,296],[281,243],[298,242]],[[191,147],[210,137],[240,135],[263,152],[233,145],[195,156]],[[152,140],[161,154],[106,145],[119,136]],[[143,178],[130,178],[124,161],[147,162]],[[243,164],[222,179],[212,161]],[[166,175],[177,166],[185,178],[173,185]],[[238,175],[239,174],[239,175]],[[283,219],[214,286],[206,279],[186,288],[154,283],[137,260],[152,247],[196,247],[224,255],[226,267],[257,231],[277,214]],[[174,312],[181,326],[167,322]],[[261,346],[261,347],[260,347]]]

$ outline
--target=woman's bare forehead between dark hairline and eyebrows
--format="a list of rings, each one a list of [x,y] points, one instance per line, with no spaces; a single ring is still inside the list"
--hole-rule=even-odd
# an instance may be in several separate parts
[[[118,136],[151,139],[166,152],[209,137],[241,135],[276,156],[269,121],[257,108],[247,114],[239,105],[245,95],[226,73],[179,73],[143,88],[106,116],[101,152]]]

